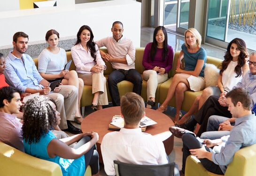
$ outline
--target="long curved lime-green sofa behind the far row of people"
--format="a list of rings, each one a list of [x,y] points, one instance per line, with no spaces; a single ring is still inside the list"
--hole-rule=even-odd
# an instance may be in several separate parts
[[[103,48],[102,50],[104,52],[107,52],[106,48]],[[67,54],[68,61],[70,59],[72,59],[71,52],[66,52],[66,54]],[[144,48],[142,48],[142,47],[141,48],[136,48],[135,69],[139,71],[139,73],[141,74],[141,77],[143,77],[142,73],[144,71],[144,67],[142,65],[143,54],[144,54]],[[177,65],[178,55],[179,55],[179,51],[177,51],[174,55],[172,69],[168,73],[169,79],[164,83],[158,84],[158,86],[157,86],[157,90],[156,90],[156,93],[155,93],[155,101],[156,102],[163,103],[164,99],[166,98],[168,89],[171,85],[172,77],[175,75],[175,68],[176,68],[176,65]],[[34,59],[34,61],[36,63],[36,66],[38,66],[37,58]],[[222,62],[221,59],[207,56],[207,63],[211,63],[211,64],[214,64],[217,67],[219,67],[221,62]],[[111,67],[110,62],[107,62],[106,66],[107,66],[107,69],[104,70],[104,76],[106,78],[108,78],[109,74],[113,71],[113,69]],[[70,70],[76,70],[74,62],[71,63]],[[124,95],[126,92],[132,92],[133,84],[129,81],[125,81],[125,80],[121,81],[120,83],[117,84],[117,86],[118,86],[120,97],[122,95]],[[109,102],[110,102],[111,97],[110,97],[110,94],[109,94],[108,83],[107,83],[107,91],[108,91],[108,99],[109,99]],[[184,101],[183,101],[184,103],[182,104],[182,110],[188,111],[189,108],[191,107],[192,103],[194,102],[194,99],[198,95],[200,95],[201,93],[202,93],[202,91],[199,91],[199,92],[186,91],[185,94],[184,94]],[[141,96],[145,101],[147,101],[147,81],[145,81],[145,80],[143,80],[143,82],[142,82]],[[81,98],[81,107],[91,105],[92,101],[93,101],[92,86],[91,85],[85,85],[84,90],[83,90],[83,95],[82,95],[82,98]],[[169,105],[172,106],[172,107],[175,107],[175,97],[171,99],[171,101],[169,102]]]

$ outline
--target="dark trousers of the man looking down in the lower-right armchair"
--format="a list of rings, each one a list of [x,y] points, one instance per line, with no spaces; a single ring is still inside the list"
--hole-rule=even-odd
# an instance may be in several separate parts
[[[202,144],[195,138],[193,134],[186,133],[182,136],[183,141],[183,148],[182,148],[182,171],[185,173],[185,165],[186,165],[186,158],[190,155],[189,149],[195,148],[202,148]],[[209,152],[209,148],[205,147],[206,150]],[[215,174],[223,175],[222,170],[220,169],[219,165],[215,164],[213,161],[209,161],[206,158],[199,159],[203,165],[203,167]]]

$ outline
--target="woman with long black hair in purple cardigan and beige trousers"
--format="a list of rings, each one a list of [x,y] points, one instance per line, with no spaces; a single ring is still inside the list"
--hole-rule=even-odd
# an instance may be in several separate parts
[[[147,81],[147,107],[155,106],[157,84],[168,79],[172,68],[173,49],[168,45],[167,32],[163,26],[155,28],[153,42],[147,44],[142,65],[145,67],[143,79]]]

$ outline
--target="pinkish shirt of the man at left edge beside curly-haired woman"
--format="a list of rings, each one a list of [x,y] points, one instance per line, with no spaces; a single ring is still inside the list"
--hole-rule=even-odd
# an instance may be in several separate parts
[[[0,141],[24,152],[21,129],[15,115],[0,112]]]

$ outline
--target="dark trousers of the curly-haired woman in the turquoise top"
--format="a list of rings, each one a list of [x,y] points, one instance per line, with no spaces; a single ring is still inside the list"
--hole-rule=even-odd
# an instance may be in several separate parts
[[[77,149],[80,146],[84,145],[85,143],[89,142],[90,140],[90,136],[85,136],[78,141],[74,148]],[[88,167],[88,165],[91,166],[92,175],[97,174],[99,172],[99,153],[97,152],[96,145],[94,145],[88,152],[85,153],[85,170]]]

